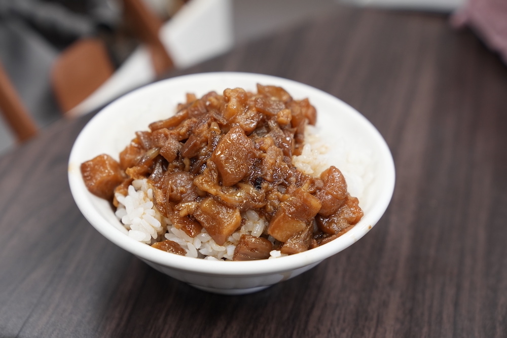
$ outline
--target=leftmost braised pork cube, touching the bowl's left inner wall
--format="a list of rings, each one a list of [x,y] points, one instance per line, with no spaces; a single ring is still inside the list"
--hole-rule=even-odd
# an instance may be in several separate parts
[[[85,185],[92,194],[113,200],[115,189],[126,178],[120,164],[109,155],[99,155],[81,164]]]

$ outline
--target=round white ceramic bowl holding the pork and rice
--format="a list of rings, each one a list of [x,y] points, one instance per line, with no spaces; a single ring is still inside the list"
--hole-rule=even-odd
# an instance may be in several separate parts
[[[364,217],[345,235],[306,252],[256,261],[211,261],[171,254],[126,235],[110,203],[90,194],[81,177],[82,162],[106,153],[118,154],[148,124],[173,114],[186,93],[198,97],[226,88],[256,91],[256,84],[281,86],[295,99],[309,98],[317,109],[317,130],[330,145],[329,159],[344,173],[351,195],[359,198]],[[76,139],[68,165],[70,190],[92,226],[153,268],[197,288],[225,294],[261,290],[295,277],[363,237],[386,210],[394,189],[394,164],[375,127],[349,105],[313,87],[252,73],[193,74],[154,83],[103,108]],[[360,244],[359,244],[360,245]]]

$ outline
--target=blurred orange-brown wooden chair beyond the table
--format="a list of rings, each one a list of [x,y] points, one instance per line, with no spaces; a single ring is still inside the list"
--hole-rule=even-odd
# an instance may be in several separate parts
[[[147,45],[157,76],[173,67],[172,60],[159,40],[162,20],[151,13],[141,0],[123,0],[124,16],[138,39]],[[77,41],[55,61],[52,89],[65,113],[93,93],[114,72],[104,43],[95,37]],[[0,62],[0,114],[23,142],[38,132],[20,96]]]

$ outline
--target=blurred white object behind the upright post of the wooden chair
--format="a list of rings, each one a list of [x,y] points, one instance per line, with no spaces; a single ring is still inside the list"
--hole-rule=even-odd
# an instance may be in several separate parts
[[[160,40],[176,68],[190,67],[234,44],[231,0],[192,0],[166,22]],[[140,46],[94,93],[67,112],[76,117],[156,79],[148,50]]]

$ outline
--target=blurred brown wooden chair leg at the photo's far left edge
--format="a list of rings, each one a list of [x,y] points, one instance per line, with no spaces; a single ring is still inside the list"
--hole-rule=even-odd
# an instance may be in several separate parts
[[[28,114],[21,98],[12,85],[4,66],[0,62],[0,111],[14,131],[18,142],[37,134],[37,124]]]

